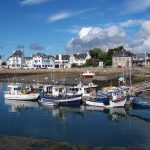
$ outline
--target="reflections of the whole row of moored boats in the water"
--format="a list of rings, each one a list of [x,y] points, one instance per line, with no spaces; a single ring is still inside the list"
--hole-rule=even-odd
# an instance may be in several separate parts
[[[126,115],[134,118],[138,118],[140,120],[150,121],[148,115],[140,113],[138,109],[133,109],[126,112],[125,108],[103,108],[103,107],[95,107],[95,106],[87,106],[81,105],[78,107],[70,107],[70,106],[40,106],[36,101],[18,101],[18,100],[7,100],[5,99],[5,105],[8,106],[9,112],[20,112],[23,110],[29,110],[33,108],[41,108],[51,111],[51,114],[54,118],[59,118],[62,120],[67,119],[67,114],[72,114],[75,116],[87,117],[85,114],[87,111],[96,111],[108,114],[108,118],[111,121],[119,121],[121,118]],[[147,110],[148,111],[148,110]],[[149,111],[148,111],[149,113]]]

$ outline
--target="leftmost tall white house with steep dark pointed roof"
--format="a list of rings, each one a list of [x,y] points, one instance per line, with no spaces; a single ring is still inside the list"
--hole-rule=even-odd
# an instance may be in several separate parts
[[[11,69],[22,68],[24,65],[24,53],[21,50],[16,50],[7,60],[7,66]]]

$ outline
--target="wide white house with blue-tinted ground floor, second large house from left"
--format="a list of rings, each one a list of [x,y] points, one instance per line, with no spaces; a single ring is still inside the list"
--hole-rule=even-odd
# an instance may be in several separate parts
[[[37,53],[33,55],[33,66],[36,68],[54,68],[54,56]]]

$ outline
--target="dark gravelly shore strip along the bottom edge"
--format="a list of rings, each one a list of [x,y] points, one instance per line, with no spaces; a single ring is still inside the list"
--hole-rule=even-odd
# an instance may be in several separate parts
[[[54,142],[16,136],[0,135],[0,150],[144,150],[136,147],[87,147],[68,142]]]

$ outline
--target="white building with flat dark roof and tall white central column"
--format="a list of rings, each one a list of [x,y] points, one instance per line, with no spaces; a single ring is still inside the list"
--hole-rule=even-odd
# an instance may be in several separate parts
[[[69,55],[55,55],[55,68],[70,68]]]

